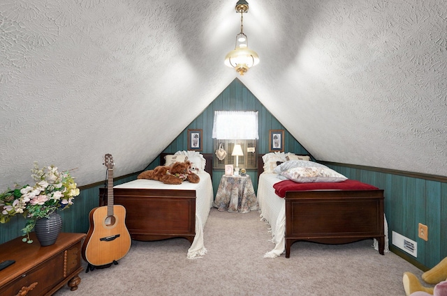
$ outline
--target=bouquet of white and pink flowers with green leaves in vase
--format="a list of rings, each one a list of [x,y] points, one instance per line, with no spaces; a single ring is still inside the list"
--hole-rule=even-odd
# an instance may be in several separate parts
[[[73,177],[64,171],[60,173],[57,166],[39,168],[34,162],[31,177],[36,181],[34,186],[15,185],[15,189],[8,189],[0,194],[0,223],[8,222],[11,217],[22,214],[27,224],[22,229],[24,242],[33,242],[29,233],[36,225],[36,220],[48,218],[54,211],[64,210],[73,205],[73,198],[79,195],[79,189]]]

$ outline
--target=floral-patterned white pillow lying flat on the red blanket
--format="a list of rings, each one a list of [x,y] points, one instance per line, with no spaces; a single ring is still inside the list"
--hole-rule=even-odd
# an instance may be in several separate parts
[[[281,172],[281,176],[298,183],[342,182],[347,178],[328,167],[295,167]]]

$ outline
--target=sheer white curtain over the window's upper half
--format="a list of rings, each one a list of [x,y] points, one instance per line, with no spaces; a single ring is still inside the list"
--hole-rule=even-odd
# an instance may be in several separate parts
[[[259,139],[258,111],[214,111],[213,139]]]

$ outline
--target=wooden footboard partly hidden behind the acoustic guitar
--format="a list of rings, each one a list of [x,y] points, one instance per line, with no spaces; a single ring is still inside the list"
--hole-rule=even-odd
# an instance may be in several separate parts
[[[107,190],[100,188],[100,199]],[[196,235],[196,190],[113,189],[114,203],[126,208],[133,240],[164,240]],[[105,198],[107,200],[107,198]]]

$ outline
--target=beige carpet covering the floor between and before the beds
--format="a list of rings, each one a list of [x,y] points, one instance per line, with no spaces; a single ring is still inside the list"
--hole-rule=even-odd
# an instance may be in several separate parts
[[[203,258],[186,259],[189,242],[133,241],[131,251],[103,270],[81,272],[78,290],[55,295],[405,295],[402,274],[422,271],[372,240],[327,245],[295,242],[291,258],[263,258],[274,244],[258,212],[212,209]]]

